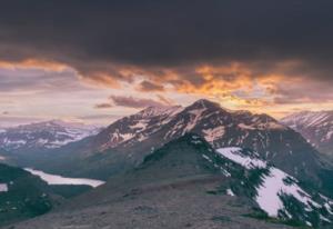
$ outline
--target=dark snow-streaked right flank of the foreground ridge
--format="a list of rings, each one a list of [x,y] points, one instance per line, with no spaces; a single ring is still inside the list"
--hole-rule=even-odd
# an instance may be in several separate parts
[[[241,148],[221,148],[216,152],[241,165],[249,175],[233,180],[230,188],[224,183],[226,193],[245,195],[269,217],[292,225],[317,228],[332,223],[333,201],[319,190],[303,186],[297,179],[271,166],[255,152]]]

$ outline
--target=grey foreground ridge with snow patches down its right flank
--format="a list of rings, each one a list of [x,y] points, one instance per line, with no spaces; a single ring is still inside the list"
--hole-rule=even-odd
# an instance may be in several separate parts
[[[316,228],[330,226],[332,210],[330,199],[256,152],[214,150],[185,133],[107,185],[14,228]]]

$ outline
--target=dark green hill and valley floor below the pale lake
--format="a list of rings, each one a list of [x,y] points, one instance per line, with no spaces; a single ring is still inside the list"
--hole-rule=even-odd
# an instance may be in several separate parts
[[[7,185],[8,191],[0,191],[0,226],[47,213],[64,199],[91,190],[88,186],[49,186],[23,169],[2,163],[1,183]]]

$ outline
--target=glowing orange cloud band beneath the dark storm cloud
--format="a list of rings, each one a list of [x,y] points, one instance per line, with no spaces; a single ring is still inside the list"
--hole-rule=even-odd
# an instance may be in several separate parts
[[[133,94],[153,93],[163,103],[174,103],[164,96],[171,92],[214,99],[235,109],[264,111],[266,108],[279,107],[280,113],[285,112],[282,107],[290,109],[286,104],[295,102],[333,101],[327,86],[320,81],[314,82],[299,71],[302,64],[301,61],[291,60],[270,66],[226,62],[167,68],[119,63],[87,63],[78,67],[37,59],[0,61],[0,68],[47,71],[70,69],[81,82],[93,88],[125,89]]]

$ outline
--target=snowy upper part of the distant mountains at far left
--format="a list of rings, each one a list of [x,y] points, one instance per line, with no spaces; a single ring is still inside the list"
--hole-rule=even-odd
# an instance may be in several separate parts
[[[98,133],[99,128],[60,120],[36,122],[0,131],[0,148],[11,152],[43,151]]]

